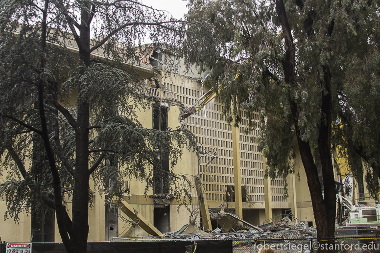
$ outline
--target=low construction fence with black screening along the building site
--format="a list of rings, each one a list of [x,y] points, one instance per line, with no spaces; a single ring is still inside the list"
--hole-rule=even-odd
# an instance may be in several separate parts
[[[331,244],[333,242],[333,245]],[[6,253],[0,244],[0,253]],[[333,247],[333,249],[332,249]],[[309,238],[271,240],[145,240],[88,243],[88,253],[257,253],[261,248],[275,253],[317,252],[380,253],[380,238]],[[66,253],[62,243],[33,243],[32,253]]]

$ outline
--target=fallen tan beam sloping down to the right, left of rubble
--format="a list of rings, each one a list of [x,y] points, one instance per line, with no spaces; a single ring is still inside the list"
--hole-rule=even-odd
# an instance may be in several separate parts
[[[125,213],[131,220],[138,221],[139,226],[145,230],[148,234],[162,236],[156,227],[149,223],[149,220],[145,219],[136,209],[131,207],[125,200],[117,197],[112,197],[112,200],[106,200],[107,204],[115,204],[123,213]]]

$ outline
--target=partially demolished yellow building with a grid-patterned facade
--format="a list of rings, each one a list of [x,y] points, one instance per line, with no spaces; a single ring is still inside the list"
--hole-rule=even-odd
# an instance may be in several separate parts
[[[189,220],[198,221],[196,226],[202,227],[201,223],[205,224],[208,220],[202,214],[202,201],[207,202],[203,212],[206,210],[215,213],[222,210],[234,213],[239,219],[255,226],[279,221],[290,212],[306,226],[314,225],[302,162],[296,161],[295,166],[300,180],[295,175],[289,176],[289,198],[284,199],[285,181],[282,178],[264,178],[265,159],[254,141],[259,130],[249,130],[249,135],[244,134],[248,125],[245,112],[240,112],[241,124],[234,129],[222,119],[223,104],[216,96],[197,114],[181,120],[183,109],[194,105],[210,89],[202,86],[201,80],[204,76],[197,74],[196,69],[187,71],[181,61],[176,62],[179,73],[169,74],[166,69],[171,56],[167,52],[152,45],[143,49],[140,52],[142,65],[138,68],[146,78],[147,89],[144,92],[147,92],[147,99],[151,99],[152,106],[149,110],[137,112],[142,126],[165,130],[168,127],[175,129],[183,124],[195,134],[205,151],[205,154],[184,152],[182,160],[174,167],[176,174],[187,175],[194,184],[191,190],[192,203],[189,205],[191,212],[185,207],[178,209],[179,202],[168,192],[168,185],[164,180],[155,182],[154,189],[146,196],[145,184],[135,179],[125,179],[123,201],[127,204],[123,207],[128,206],[126,208],[130,216],[119,212],[120,206],[106,196],[100,196],[94,189],[93,207],[89,210],[88,240],[109,241],[123,235],[146,235],[141,230],[134,233],[129,231],[131,227],[137,226],[136,223],[139,226],[143,223],[140,227],[147,228],[144,231],[153,231],[151,233],[158,235],[180,230],[189,224]],[[259,114],[255,115],[255,120],[259,120]],[[298,151],[295,152],[297,154]],[[168,170],[167,159],[166,163],[164,168]],[[197,175],[200,178],[198,192],[195,187]],[[3,202],[0,201],[0,213],[5,211]],[[133,215],[135,223],[131,221]],[[220,225],[220,216],[223,215],[215,214],[210,217],[216,220],[216,226]],[[49,219],[54,220],[54,217]],[[0,227],[8,228],[8,234],[2,239],[14,242],[30,241],[31,231],[35,234],[49,233],[49,236],[41,237],[42,241],[60,242],[58,229],[54,224],[36,223],[26,213],[21,217],[20,224],[14,224],[11,220],[0,220]]]

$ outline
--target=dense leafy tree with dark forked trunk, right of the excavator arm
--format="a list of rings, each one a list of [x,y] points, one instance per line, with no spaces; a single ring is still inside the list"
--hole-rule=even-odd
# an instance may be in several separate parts
[[[365,92],[378,94],[379,1],[191,0],[187,19],[202,22],[188,28],[194,34],[183,47],[188,62],[212,69],[208,80],[222,85],[230,122],[239,122],[241,108],[251,119],[260,112],[256,141],[267,160],[266,176],[278,171],[286,179],[296,172],[299,149],[318,237],[334,237],[333,151],[348,154],[359,141],[368,154],[376,142],[368,130],[378,129],[376,103],[367,101],[364,108],[362,102]],[[374,121],[363,125],[368,116]],[[348,122],[356,126],[351,134]],[[366,140],[360,140],[360,126],[368,130]],[[361,162],[350,154],[353,165]]]

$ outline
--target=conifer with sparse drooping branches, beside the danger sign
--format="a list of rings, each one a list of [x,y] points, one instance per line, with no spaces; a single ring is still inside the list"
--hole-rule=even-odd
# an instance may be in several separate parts
[[[143,128],[136,116],[151,103],[133,67],[144,37],[174,50],[184,23],[137,0],[1,0],[0,26],[5,218],[47,205],[66,250],[86,252],[91,178],[100,191],[116,181],[110,194],[126,177],[151,187],[162,168],[157,150],[173,168],[184,148],[196,148],[187,129]]]

